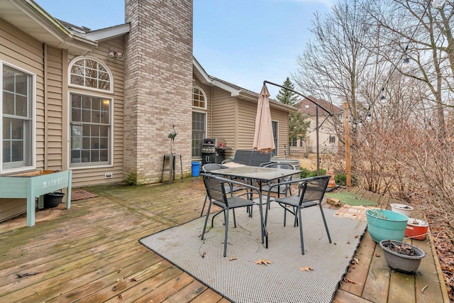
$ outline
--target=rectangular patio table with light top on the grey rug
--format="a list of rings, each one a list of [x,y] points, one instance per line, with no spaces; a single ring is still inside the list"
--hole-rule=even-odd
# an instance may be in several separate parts
[[[284,170],[282,168],[275,167],[258,167],[258,166],[240,166],[240,167],[231,167],[223,168],[221,170],[212,170],[212,174],[223,175],[229,177],[238,177],[246,180],[250,180],[251,184],[255,180],[259,182],[260,194],[262,192],[262,182],[270,182],[277,180],[279,178],[289,177],[291,175],[299,174],[298,170]],[[278,191],[279,192],[279,191]],[[279,196],[279,193],[278,193]],[[268,195],[270,197],[270,195]],[[253,199],[251,197],[251,199]],[[267,199],[266,207],[269,207],[270,199]],[[268,248],[268,233],[265,226],[265,239],[266,239],[266,248]]]

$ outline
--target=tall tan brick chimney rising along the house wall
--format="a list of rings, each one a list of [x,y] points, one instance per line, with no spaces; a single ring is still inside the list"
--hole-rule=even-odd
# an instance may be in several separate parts
[[[124,177],[159,182],[173,125],[175,151],[191,170],[192,0],[126,0],[125,15]]]

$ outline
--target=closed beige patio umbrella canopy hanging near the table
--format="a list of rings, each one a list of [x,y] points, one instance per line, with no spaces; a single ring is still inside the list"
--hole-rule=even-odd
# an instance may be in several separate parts
[[[275,150],[275,138],[272,134],[272,122],[270,111],[270,92],[263,85],[262,92],[258,97],[257,115],[255,116],[255,132],[253,148],[260,153],[271,153]]]

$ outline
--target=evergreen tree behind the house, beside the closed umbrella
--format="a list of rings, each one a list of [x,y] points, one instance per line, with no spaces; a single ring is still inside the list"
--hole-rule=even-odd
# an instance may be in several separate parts
[[[290,81],[289,77],[285,79],[282,86],[288,87],[289,89],[294,89],[294,85],[292,81]],[[288,89],[282,88],[277,93],[276,99],[281,103],[294,106],[301,98],[298,96],[298,94],[295,94]],[[289,115],[289,143],[291,143],[294,138],[303,140],[306,137],[307,128],[309,128],[311,122],[306,121],[305,119],[306,117],[301,114],[301,111],[297,111],[296,113]]]

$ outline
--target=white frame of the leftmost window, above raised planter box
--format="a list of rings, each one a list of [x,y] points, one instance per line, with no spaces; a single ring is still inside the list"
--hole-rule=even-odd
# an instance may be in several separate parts
[[[28,162],[29,164],[25,163],[22,166],[17,166],[17,167],[8,167],[9,165],[4,165],[3,162],[3,132],[0,131],[0,174],[3,173],[13,173],[13,172],[23,172],[27,170],[34,170],[36,169],[36,74],[33,72],[30,72],[28,70],[24,70],[21,67],[18,67],[16,65],[12,65],[8,62],[0,60],[0,126],[1,129],[3,129],[3,69],[4,66],[11,67],[15,70],[18,70],[20,72],[23,72],[27,74],[28,76],[31,77],[30,80],[30,86],[28,88],[28,92],[30,93],[30,96],[28,96],[28,109],[30,111],[30,114],[28,115],[28,119],[31,120],[31,127],[29,126],[29,133],[28,133],[28,138],[26,139],[28,141],[28,145],[26,148],[26,155],[28,157]],[[6,167],[5,167],[6,166]]]

